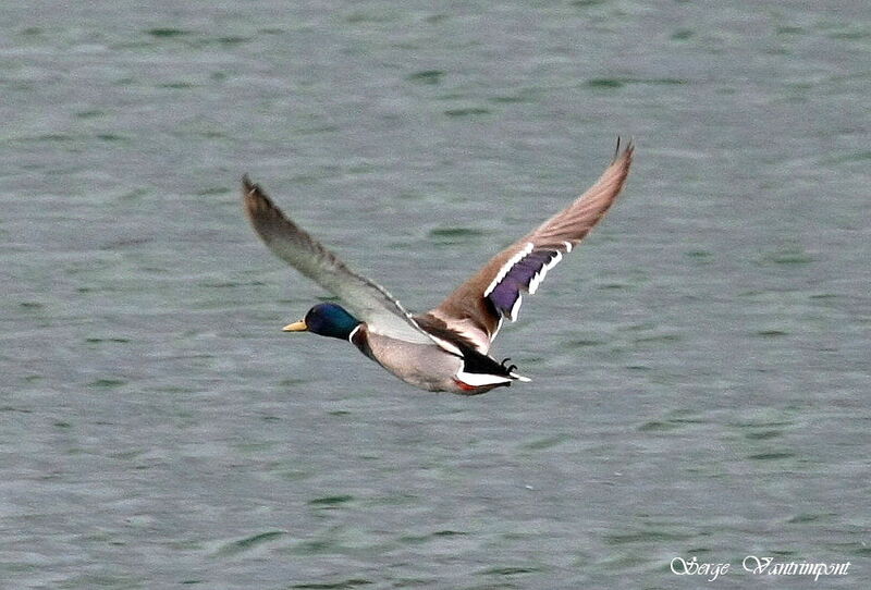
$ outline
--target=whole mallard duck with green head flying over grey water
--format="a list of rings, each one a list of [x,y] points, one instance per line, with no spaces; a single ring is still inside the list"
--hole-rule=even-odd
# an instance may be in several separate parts
[[[608,211],[629,173],[633,146],[619,142],[612,163],[572,205],[496,254],[438,307],[413,316],[382,286],[351,270],[335,254],[287,219],[247,175],[245,211],[272,253],[335,295],[285,332],[346,340],[406,383],[463,395],[529,381],[517,367],[488,353],[505,319],[514,321],[524,293],[571,253]]]

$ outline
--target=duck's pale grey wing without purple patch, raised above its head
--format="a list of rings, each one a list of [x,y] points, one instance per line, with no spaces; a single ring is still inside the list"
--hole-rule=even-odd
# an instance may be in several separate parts
[[[432,344],[432,339],[382,286],[351,270],[287,219],[247,176],[242,184],[245,212],[272,254],[339,297],[370,331],[406,342]]]

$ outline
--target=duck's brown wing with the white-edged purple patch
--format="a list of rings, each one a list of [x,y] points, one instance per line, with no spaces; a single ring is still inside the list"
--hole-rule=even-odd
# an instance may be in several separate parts
[[[503,319],[517,319],[523,292],[535,293],[548,271],[602,219],[623,188],[631,161],[631,144],[621,152],[617,140],[614,160],[596,184],[491,258],[439,307],[416,318],[417,321],[451,331],[486,354]]]

